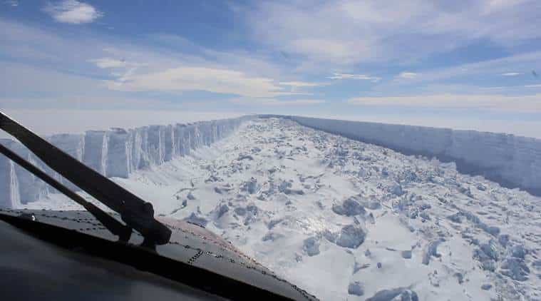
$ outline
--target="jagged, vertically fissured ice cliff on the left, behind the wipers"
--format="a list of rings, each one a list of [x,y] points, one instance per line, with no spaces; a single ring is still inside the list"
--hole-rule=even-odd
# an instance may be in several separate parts
[[[201,146],[210,146],[251,118],[253,116],[128,130],[111,128],[110,131],[86,131],[84,135],[58,134],[46,139],[107,177],[128,178],[134,170],[160,165]],[[9,139],[1,139],[1,143],[69,188],[78,189],[48,168],[21,143]],[[52,189],[11,160],[0,156],[0,207],[17,208],[21,203],[43,198]]]

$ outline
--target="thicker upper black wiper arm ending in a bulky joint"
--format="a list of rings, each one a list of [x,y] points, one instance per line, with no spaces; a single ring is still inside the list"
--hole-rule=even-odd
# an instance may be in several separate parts
[[[0,128],[21,141],[43,163],[119,213],[126,225],[143,235],[143,245],[164,245],[169,242],[171,230],[155,220],[152,204],[64,153],[2,112]]]

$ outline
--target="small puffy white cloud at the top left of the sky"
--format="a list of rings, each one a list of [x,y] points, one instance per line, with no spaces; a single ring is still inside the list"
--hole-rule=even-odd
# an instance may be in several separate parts
[[[94,6],[77,0],[49,2],[43,11],[56,21],[69,24],[91,23],[103,16],[103,13],[95,9]]]

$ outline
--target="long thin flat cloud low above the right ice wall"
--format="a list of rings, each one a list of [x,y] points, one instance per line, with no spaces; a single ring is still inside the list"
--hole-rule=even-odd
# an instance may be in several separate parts
[[[346,101],[364,106],[410,106],[426,108],[485,108],[503,111],[541,111],[541,94],[434,94],[418,96],[356,97]]]

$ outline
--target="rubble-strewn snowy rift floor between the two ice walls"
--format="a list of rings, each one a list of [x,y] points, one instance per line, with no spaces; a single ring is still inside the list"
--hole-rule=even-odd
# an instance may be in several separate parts
[[[454,163],[270,118],[113,180],[321,300],[541,299],[541,198]]]

